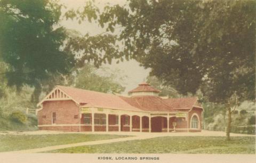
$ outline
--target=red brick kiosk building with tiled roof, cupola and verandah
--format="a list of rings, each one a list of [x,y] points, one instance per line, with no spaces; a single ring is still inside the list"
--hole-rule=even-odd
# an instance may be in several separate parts
[[[201,132],[197,97],[166,99],[147,83],[130,96],[55,87],[38,103],[38,128],[74,132]]]

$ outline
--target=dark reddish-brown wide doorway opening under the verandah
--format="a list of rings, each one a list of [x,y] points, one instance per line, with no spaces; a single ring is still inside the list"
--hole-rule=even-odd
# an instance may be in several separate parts
[[[163,129],[167,128],[166,117],[152,117],[151,118],[151,132],[163,132]]]

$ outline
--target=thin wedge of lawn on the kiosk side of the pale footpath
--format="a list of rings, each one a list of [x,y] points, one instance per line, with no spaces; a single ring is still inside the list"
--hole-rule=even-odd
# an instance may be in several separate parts
[[[48,134],[48,135],[0,135],[0,152],[42,148],[111,138],[125,135],[85,135],[85,134]]]

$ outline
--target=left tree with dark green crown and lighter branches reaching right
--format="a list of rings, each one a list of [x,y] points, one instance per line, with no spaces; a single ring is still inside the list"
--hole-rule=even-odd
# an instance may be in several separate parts
[[[99,67],[119,55],[114,48],[116,36],[73,36],[60,25],[62,18],[73,19],[74,13],[83,13],[79,18],[83,21],[97,19],[98,9],[92,2],[61,13],[64,7],[57,0],[0,0],[0,61],[7,64],[0,76],[18,91],[25,85],[34,87],[34,103],[74,67],[83,67],[85,61]]]

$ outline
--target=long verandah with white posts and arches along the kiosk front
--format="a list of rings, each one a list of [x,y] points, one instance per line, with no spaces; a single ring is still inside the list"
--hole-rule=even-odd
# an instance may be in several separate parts
[[[179,115],[176,116],[176,115]],[[80,131],[170,132],[175,131],[174,119],[188,129],[187,113],[149,113],[103,108],[81,108]],[[153,123],[153,124],[152,124]]]

